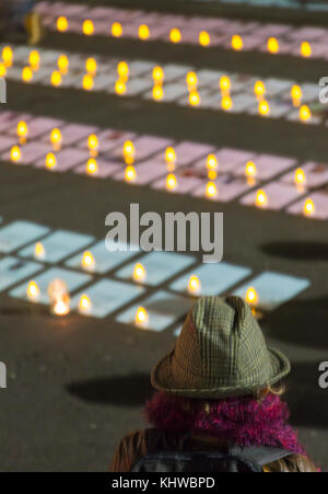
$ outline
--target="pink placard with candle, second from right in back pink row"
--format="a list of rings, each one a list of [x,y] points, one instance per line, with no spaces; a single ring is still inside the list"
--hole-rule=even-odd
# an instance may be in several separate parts
[[[294,166],[296,164],[296,160],[270,154],[259,154],[254,160],[254,163],[256,165],[256,179],[269,180]],[[246,163],[233,170],[233,174],[245,176],[245,169]]]

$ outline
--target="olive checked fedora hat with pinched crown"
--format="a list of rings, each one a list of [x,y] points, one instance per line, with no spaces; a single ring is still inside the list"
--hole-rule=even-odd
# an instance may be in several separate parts
[[[289,359],[268,348],[239,297],[204,297],[187,315],[174,349],[152,371],[152,386],[188,398],[256,394],[284,378]]]

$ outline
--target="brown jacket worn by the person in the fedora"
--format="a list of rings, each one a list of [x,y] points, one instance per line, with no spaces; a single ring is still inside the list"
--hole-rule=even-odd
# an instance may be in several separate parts
[[[112,472],[129,472],[133,464],[145,455],[178,450],[180,437],[164,434],[157,429],[145,429],[126,436],[116,450],[110,464]],[[224,450],[224,444],[215,438],[190,436],[184,441],[185,450]],[[265,472],[317,472],[317,468],[309,459],[298,455],[291,455],[283,460],[276,461],[263,468]]]

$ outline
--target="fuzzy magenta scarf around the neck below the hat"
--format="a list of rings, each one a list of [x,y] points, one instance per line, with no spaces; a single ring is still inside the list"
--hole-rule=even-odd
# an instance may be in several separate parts
[[[288,424],[289,409],[277,395],[268,394],[262,400],[197,400],[199,406],[191,407],[184,406],[186,403],[184,398],[156,392],[144,414],[160,430],[209,434],[238,446],[274,446],[304,455],[297,433]]]

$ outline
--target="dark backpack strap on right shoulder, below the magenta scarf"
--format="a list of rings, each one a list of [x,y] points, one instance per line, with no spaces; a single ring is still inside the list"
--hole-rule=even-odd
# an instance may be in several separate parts
[[[263,468],[267,464],[273,463],[274,461],[282,460],[283,458],[293,455],[293,452],[271,446],[259,446],[256,448],[232,447],[229,449],[229,455]]]

